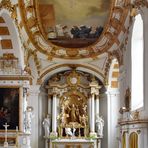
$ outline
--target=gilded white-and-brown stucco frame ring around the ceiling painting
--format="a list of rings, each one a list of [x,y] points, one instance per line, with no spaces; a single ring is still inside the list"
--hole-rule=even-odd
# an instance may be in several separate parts
[[[118,0],[119,1],[119,0]],[[120,44],[118,35],[126,32],[124,26],[129,8],[125,7],[129,1],[124,0],[122,3],[112,1],[110,7],[110,15],[104,27],[104,31],[99,39],[87,47],[81,48],[66,48],[54,45],[47,41],[42,29],[41,22],[38,18],[38,5],[36,1],[19,0],[19,8],[21,12],[24,28],[29,36],[33,49],[45,54],[47,59],[53,57],[62,59],[80,59],[95,57],[108,51],[114,44]]]

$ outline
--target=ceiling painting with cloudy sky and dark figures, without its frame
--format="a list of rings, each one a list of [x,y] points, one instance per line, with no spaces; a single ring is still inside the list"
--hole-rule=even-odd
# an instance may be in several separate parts
[[[55,45],[77,48],[103,32],[111,0],[38,0],[42,30]]]

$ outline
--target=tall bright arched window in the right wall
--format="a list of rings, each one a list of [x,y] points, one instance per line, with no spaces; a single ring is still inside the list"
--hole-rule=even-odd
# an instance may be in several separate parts
[[[143,20],[140,14],[135,17],[132,34],[132,110],[143,107]]]

